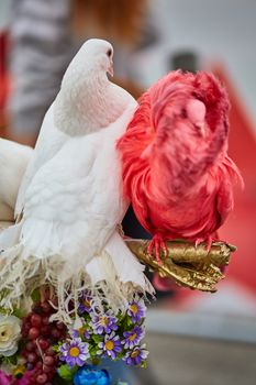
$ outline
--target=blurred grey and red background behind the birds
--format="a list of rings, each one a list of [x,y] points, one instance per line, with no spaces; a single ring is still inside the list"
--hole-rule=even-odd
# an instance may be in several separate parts
[[[238,248],[226,278],[214,295],[158,295],[148,310],[148,370],[131,384],[256,384],[256,1],[1,0],[1,136],[34,145],[89,37],[113,43],[115,81],[136,98],[171,69],[213,72],[230,95],[230,155],[245,179],[220,232]],[[142,235],[131,216],[125,227]]]

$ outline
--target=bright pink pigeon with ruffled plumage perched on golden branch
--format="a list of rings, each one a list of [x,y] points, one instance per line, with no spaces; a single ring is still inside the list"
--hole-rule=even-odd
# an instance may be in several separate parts
[[[242,182],[227,156],[229,99],[213,75],[174,72],[138,100],[118,143],[124,193],[153,235],[209,240]]]

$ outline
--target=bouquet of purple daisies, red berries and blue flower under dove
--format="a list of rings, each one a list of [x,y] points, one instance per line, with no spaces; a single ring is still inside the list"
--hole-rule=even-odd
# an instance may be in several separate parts
[[[78,315],[66,327],[52,321],[56,299],[51,290],[43,292],[43,296],[40,290],[33,294],[29,311],[23,306],[12,316],[0,315],[1,385],[112,384],[111,374],[98,366],[105,358],[146,366],[148,351],[142,343],[146,307],[142,298],[114,314],[107,305],[94,306],[90,294],[84,292]]]

